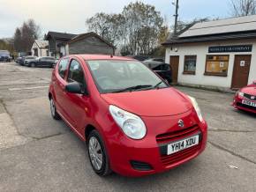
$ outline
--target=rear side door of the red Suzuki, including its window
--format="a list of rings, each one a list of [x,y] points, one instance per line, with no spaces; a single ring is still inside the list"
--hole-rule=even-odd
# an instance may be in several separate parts
[[[70,117],[68,116],[66,112],[66,92],[65,92],[65,85],[67,85],[66,82],[66,74],[69,64],[69,58],[65,57],[61,59],[61,61],[57,64],[55,72],[55,76],[52,79],[54,91],[55,91],[55,102],[56,102],[56,109],[58,112],[64,116],[64,119],[66,121],[70,121]]]

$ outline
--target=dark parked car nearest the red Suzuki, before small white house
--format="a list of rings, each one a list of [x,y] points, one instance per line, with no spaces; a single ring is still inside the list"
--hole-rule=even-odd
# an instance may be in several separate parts
[[[55,58],[51,56],[42,56],[25,61],[25,65],[29,67],[53,67]]]

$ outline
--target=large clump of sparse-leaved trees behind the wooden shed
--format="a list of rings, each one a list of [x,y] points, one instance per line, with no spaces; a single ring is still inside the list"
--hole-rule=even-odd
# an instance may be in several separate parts
[[[136,2],[124,6],[120,14],[97,13],[86,23],[123,54],[148,55],[158,46],[163,18],[154,6]]]

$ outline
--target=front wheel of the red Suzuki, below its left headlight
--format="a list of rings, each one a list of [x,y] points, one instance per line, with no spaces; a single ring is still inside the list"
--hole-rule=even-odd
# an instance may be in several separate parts
[[[102,137],[97,130],[94,129],[90,132],[87,138],[87,147],[88,156],[94,172],[100,176],[111,174],[109,157]]]

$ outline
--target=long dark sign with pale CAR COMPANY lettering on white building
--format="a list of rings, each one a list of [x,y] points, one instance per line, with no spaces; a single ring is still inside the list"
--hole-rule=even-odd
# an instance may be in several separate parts
[[[209,53],[252,52],[252,45],[212,46]]]

